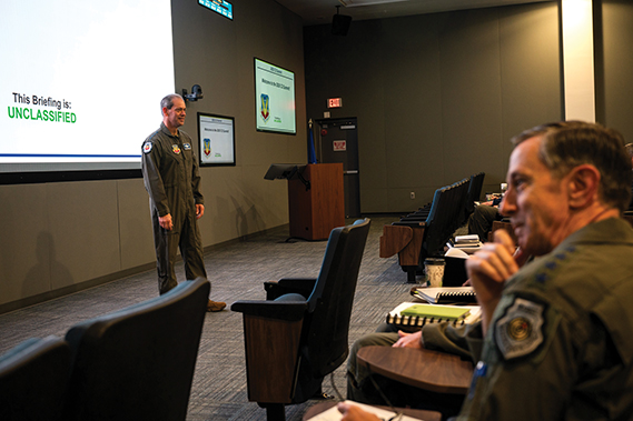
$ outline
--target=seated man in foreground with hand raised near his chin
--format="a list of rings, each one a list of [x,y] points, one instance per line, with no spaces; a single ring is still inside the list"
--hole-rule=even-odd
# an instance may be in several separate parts
[[[561,122],[513,139],[504,231],[466,265],[482,321],[459,420],[629,419],[633,413],[633,230],[622,137]],[[344,420],[373,420],[339,404]]]

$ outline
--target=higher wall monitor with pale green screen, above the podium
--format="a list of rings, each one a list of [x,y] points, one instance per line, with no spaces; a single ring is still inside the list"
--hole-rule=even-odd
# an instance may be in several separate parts
[[[294,72],[255,59],[255,103],[257,130],[297,133]]]

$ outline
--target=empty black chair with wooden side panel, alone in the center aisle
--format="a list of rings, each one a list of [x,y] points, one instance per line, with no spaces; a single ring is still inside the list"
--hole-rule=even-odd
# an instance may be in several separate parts
[[[348,328],[368,219],[335,228],[317,279],[267,283],[267,300],[237,301],[244,314],[248,400],[267,418],[320,391],[325,375],[347,358]]]

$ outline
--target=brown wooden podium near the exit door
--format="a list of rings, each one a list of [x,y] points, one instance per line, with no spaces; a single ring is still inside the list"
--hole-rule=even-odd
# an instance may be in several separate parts
[[[288,180],[290,237],[327,240],[334,228],[345,225],[343,163],[311,163],[298,173]]]

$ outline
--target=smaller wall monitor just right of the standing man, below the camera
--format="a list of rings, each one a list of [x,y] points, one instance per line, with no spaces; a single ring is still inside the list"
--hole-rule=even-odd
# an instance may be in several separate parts
[[[235,119],[198,112],[200,166],[235,166]]]

